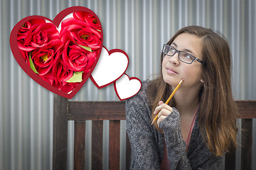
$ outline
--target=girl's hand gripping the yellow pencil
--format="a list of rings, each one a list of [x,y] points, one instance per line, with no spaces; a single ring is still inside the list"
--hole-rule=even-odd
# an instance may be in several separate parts
[[[164,120],[167,115],[171,114],[171,112],[174,111],[171,106],[167,105],[163,101],[159,101],[159,106],[156,107],[154,114],[158,114],[158,120],[157,120],[157,125],[159,126],[159,123],[161,123],[162,120]]]

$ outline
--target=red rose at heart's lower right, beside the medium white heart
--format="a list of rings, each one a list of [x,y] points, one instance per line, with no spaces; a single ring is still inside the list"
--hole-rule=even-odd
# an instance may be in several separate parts
[[[65,43],[64,50],[62,51],[63,64],[74,72],[89,72],[96,60],[97,52],[87,51],[74,44],[70,40],[70,35],[63,35],[61,40]]]

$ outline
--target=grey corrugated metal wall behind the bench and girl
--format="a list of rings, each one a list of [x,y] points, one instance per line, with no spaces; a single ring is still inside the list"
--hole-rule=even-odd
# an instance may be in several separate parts
[[[148,79],[159,72],[161,45],[179,28],[199,25],[219,30],[228,38],[233,52],[235,98],[256,99],[256,4],[253,0],[0,0],[0,4],[0,169],[52,168],[53,94],[23,72],[9,47],[11,29],[26,16],[41,15],[53,20],[60,11],[70,6],[90,8],[102,23],[105,47],[127,52],[127,74],[139,79]],[[99,90],[89,79],[72,100],[118,98],[112,85]],[[105,142],[108,140],[107,125],[108,121],[105,121]],[[124,127],[125,122],[122,123],[122,141]],[[86,140],[89,142],[92,135],[90,122],[87,123],[88,128]],[[255,120],[253,128],[252,149],[253,159],[256,160]],[[73,130],[72,122],[69,130]],[[69,136],[72,137],[73,132],[69,132]],[[73,141],[69,140],[70,154],[73,152],[72,144]],[[103,154],[107,157],[108,149],[104,149]],[[90,149],[86,154],[90,154]],[[252,164],[256,169],[256,163]],[[72,169],[71,156],[68,165]],[[106,160],[104,165],[107,166]],[[121,167],[124,167],[122,162]],[[87,169],[90,169],[88,163]]]

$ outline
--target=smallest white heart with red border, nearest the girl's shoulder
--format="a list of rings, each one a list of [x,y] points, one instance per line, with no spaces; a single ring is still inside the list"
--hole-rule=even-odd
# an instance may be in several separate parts
[[[127,74],[114,82],[114,91],[120,101],[126,100],[137,94],[142,87],[141,81],[137,77],[129,78]]]

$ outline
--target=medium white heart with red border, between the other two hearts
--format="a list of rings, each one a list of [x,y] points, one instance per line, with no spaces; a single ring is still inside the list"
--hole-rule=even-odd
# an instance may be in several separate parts
[[[122,77],[129,64],[128,55],[119,49],[107,51],[102,47],[100,59],[93,70],[90,79],[101,89]]]

